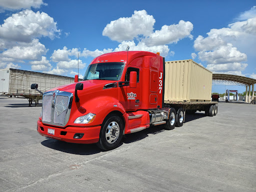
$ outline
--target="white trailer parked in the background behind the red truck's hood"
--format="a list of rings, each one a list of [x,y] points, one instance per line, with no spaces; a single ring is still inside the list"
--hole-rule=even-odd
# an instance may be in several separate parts
[[[42,72],[19,70],[14,68],[0,69],[0,94],[22,96],[27,98],[29,105],[32,101],[35,105],[42,99],[42,95],[36,90],[30,89],[32,83],[37,83],[41,92],[64,84],[73,83],[74,78]]]

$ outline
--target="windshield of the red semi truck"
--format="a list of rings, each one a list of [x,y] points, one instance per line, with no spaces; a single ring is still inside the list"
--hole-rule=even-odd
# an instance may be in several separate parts
[[[123,62],[105,62],[90,64],[84,74],[83,80],[119,80],[122,74],[123,67]]]

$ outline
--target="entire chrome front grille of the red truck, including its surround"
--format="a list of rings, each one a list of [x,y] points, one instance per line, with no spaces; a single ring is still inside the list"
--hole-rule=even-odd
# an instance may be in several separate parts
[[[64,127],[69,119],[73,94],[65,91],[48,91],[43,94],[42,122]]]

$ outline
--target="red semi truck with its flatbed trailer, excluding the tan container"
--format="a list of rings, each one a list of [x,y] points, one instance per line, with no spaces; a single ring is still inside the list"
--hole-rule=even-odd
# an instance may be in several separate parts
[[[181,76],[181,81],[184,78]],[[166,129],[182,126],[185,111],[217,113],[217,102],[210,101],[210,94],[209,100],[164,99],[165,84],[165,61],[159,53],[100,55],[91,61],[82,81],[77,82],[76,76],[74,83],[42,93],[37,131],[42,136],[97,143],[101,149],[111,150],[124,134],[159,124]],[[31,88],[38,90],[37,86],[34,83]]]

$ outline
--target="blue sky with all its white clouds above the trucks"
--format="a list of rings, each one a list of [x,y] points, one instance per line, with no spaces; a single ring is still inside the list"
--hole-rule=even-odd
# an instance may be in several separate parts
[[[0,68],[82,76],[110,51],[192,58],[215,73],[256,78],[255,0],[0,0]],[[212,91],[245,90],[216,83]]]

